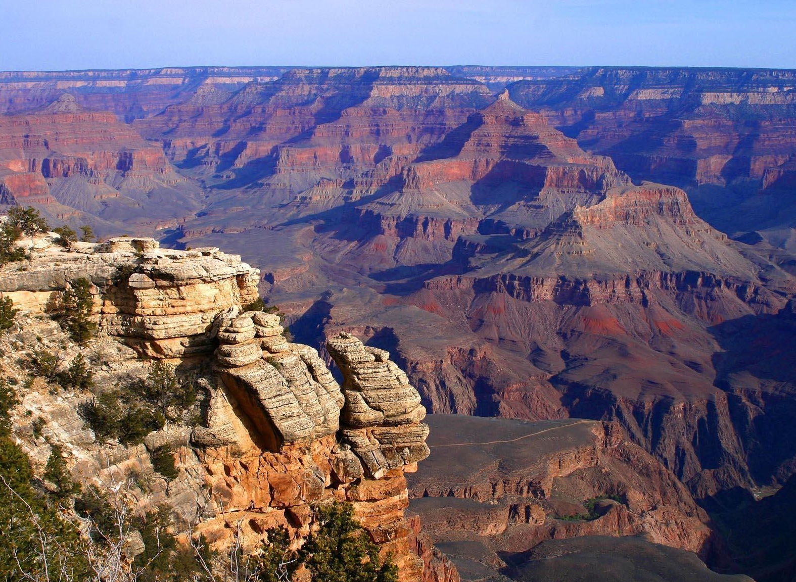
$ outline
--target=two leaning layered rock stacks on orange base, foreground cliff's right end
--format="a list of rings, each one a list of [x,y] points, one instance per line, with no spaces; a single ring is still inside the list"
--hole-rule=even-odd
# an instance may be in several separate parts
[[[384,552],[396,555],[402,576],[419,576],[423,563],[409,551],[412,528],[402,520],[408,506],[404,471],[415,471],[428,455],[419,394],[387,352],[347,334],[326,346],[344,377],[341,387],[315,350],[283,341],[281,331],[275,315],[250,311],[230,317],[219,332],[217,375],[225,396],[213,398],[222,398],[222,406],[236,403],[244,426],[256,428],[256,447],[242,451],[236,463],[224,463],[224,471],[213,471],[219,475],[213,487],[243,486],[247,499],[241,501],[251,498],[259,507],[254,519],[260,530],[286,519],[307,525],[302,519],[309,518],[313,503],[352,502]],[[274,340],[277,336],[281,341]],[[214,443],[228,419],[228,413],[214,414],[194,441],[212,435],[207,442]],[[314,463],[298,459],[308,447]],[[252,475],[257,482],[240,475],[239,467],[252,467],[251,455],[257,455],[259,469]],[[246,509],[241,501],[235,504],[238,511]],[[235,509],[228,506],[230,511]]]

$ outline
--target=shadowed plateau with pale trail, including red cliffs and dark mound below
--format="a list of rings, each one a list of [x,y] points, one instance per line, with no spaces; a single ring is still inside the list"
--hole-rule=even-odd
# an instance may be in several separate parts
[[[427,422],[410,510],[462,580],[749,580],[696,558],[727,559],[707,515],[615,423]]]

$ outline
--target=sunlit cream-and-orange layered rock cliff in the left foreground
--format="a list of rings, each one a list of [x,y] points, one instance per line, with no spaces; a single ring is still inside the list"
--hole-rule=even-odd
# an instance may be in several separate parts
[[[21,386],[14,420],[34,464],[59,444],[84,484],[106,489],[135,471],[158,483],[141,486],[140,509],[165,502],[217,549],[236,540],[252,548],[279,525],[298,540],[310,533],[313,506],[351,502],[401,579],[421,579],[416,524],[404,521],[404,473],[428,455],[428,428],[418,393],[386,351],[347,334],[330,339],[338,385],[316,350],[283,337],[277,316],[245,310],[258,297],[258,277],[239,256],[135,238],[62,248],[54,238],[37,237],[21,269],[0,270],[2,297],[21,309],[18,327],[2,338],[9,376],[22,385],[25,353],[60,346],[64,358],[81,352],[96,362],[102,391],[156,358],[193,377],[205,412],[197,426],[168,423],[138,447],[103,444],[78,412],[91,394],[34,382]],[[80,278],[91,282],[98,335],[79,349],[49,316]],[[46,439],[29,434],[34,420]],[[152,472],[148,452],[163,446],[177,455],[178,478]]]

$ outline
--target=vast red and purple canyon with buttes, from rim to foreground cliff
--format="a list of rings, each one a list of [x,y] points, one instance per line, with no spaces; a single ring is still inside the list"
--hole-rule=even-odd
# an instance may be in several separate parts
[[[10,139],[6,202],[240,252],[432,412],[615,420],[717,504],[796,468],[792,71],[4,75],[8,135],[65,128]]]

